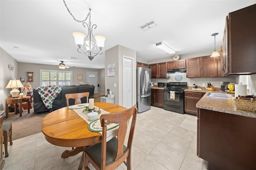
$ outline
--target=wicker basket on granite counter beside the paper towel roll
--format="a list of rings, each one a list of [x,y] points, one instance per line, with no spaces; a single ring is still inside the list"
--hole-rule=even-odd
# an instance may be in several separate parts
[[[256,112],[256,101],[234,99],[236,109]]]

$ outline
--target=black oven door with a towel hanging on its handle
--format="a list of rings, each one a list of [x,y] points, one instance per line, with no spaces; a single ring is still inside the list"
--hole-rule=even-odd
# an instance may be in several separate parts
[[[174,91],[175,99],[170,99],[170,91]],[[164,89],[164,104],[184,107],[184,90]]]

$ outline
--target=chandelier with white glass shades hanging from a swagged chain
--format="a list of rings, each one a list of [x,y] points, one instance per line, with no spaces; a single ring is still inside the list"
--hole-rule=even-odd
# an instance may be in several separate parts
[[[97,25],[93,24],[91,25],[91,9],[89,9],[89,13],[87,14],[86,18],[83,21],[76,20],[76,18],[72,15],[70,10],[68,9],[65,0],[63,0],[64,5],[66,6],[69,14],[73,17],[73,19],[76,22],[82,22],[84,28],[88,28],[88,34],[87,36],[81,32],[73,32],[73,36],[75,38],[76,45],[78,46],[77,51],[79,53],[84,53],[85,55],[88,56],[90,61],[94,59],[94,57],[98,54],[102,54],[102,48],[104,47],[104,41],[106,38],[104,36],[93,36],[92,34],[92,29],[96,29]],[[87,18],[89,17],[89,22],[88,24],[85,22]],[[85,38],[86,37],[86,38]],[[85,46],[85,49],[82,49],[83,45]]]

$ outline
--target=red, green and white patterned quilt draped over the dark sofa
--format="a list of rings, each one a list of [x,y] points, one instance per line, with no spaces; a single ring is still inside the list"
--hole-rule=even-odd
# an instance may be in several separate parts
[[[58,96],[61,90],[62,87],[56,85],[42,86],[36,89],[47,109],[52,108],[52,102]]]

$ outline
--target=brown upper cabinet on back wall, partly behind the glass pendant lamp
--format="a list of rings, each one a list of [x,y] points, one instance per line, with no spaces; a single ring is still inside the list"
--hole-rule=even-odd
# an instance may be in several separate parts
[[[200,57],[201,77],[217,77],[217,57]]]

